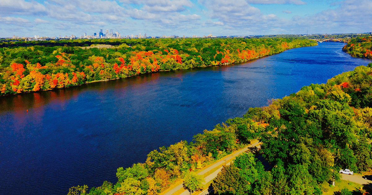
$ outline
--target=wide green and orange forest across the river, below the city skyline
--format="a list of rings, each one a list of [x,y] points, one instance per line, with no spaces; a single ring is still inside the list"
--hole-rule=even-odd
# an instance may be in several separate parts
[[[85,48],[100,44],[114,48]],[[90,39],[0,44],[0,95],[72,87],[156,71],[244,62],[317,45],[295,38]]]

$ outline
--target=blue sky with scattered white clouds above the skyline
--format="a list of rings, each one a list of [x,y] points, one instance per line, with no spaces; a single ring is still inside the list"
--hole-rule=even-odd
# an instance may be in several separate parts
[[[0,0],[0,37],[372,31],[372,0]]]

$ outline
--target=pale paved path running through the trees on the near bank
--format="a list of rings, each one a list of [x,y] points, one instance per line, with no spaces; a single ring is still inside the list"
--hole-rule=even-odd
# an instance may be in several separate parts
[[[241,153],[247,151],[249,147],[254,147],[254,146],[257,146],[258,144],[259,144],[258,141],[257,142],[254,142],[253,144],[250,144],[249,146],[244,147],[241,150],[238,150],[237,152],[233,153],[232,155],[229,155],[229,156],[224,157],[223,159],[221,159],[218,162],[214,163],[212,166],[209,166],[208,168],[206,168],[206,169],[202,170],[201,172],[199,172],[198,175],[204,175],[208,171],[210,171],[210,170],[212,170],[212,169],[214,169],[214,168],[216,168],[216,167],[218,167],[218,166],[226,163],[228,160],[233,159],[236,156],[240,155]],[[230,165],[230,162],[227,163],[226,165]],[[206,183],[212,181],[217,176],[217,174],[221,171],[222,168],[223,167],[217,169],[215,172],[213,172],[213,173],[209,174],[208,176],[206,176],[204,178],[205,182],[203,184],[206,184]],[[179,191],[182,188],[183,188],[183,183],[181,183],[180,185],[177,185],[176,187],[174,187],[173,189],[171,189],[170,191],[168,191],[164,195],[172,195],[173,193]],[[206,193],[207,193],[207,191],[205,190],[205,191],[203,191],[202,194],[199,194],[199,195],[204,195]],[[189,194],[190,194],[190,192],[188,190],[185,190],[180,195],[189,195]]]

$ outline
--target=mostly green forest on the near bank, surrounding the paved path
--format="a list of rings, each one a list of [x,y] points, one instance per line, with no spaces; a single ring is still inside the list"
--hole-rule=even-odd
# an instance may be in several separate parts
[[[253,139],[262,142],[259,153],[272,169],[265,171],[253,153],[243,153],[214,179],[215,194],[320,195],[324,185],[340,180],[338,170],[372,168],[371,130],[372,63],[249,108],[243,117],[196,134],[193,142],[153,150],[146,162],[118,168],[115,184],[105,181],[89,191],[87,185],[73,186],[68,195],[155,195]]]

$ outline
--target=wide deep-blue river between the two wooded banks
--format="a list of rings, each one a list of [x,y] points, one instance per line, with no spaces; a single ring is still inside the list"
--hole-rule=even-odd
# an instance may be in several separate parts
[[[116,183],[118,167],[145,162],[151,150],[190,142],[250,107],[372,62],[350,57],[343,45],[0,97],[0,195]]]

